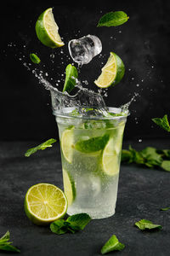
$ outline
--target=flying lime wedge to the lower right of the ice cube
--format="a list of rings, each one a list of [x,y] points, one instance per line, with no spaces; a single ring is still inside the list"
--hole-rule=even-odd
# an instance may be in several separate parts
[[[124,64],[119,56],[111,52],[110,57],[102,68],[102,73],[99,78],[94,81],[94,84],[100,88],[107,88],[118,84],[125,73]]]

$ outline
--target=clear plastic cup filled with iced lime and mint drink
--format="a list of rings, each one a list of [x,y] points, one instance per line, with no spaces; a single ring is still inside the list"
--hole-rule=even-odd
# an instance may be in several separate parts
[[[91,218],[107,218],[115,213],[127,113],[108,111],[112,115],[107,118],[80,116],[74,108],[54,113],[69,215],[86,212]]]

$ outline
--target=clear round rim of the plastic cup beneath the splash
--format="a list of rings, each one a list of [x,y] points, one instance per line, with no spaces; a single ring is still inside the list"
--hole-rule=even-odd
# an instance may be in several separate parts
[[[87,107],[87,106],[82,106],[82,108],[93,108],[92,106]],[[95,108],[95,107],[94,107]],[[106,107],[107,111],[111,113],[122,113],[122,108],[113,108],[113,107]],[[62,108],[62,111],[54,110],[53,108],[53,113],[54,116],[59,117],[59,118],[65,118],[65,119],[94,119],[94,120],[105,120],[105,119],[127,119],[127,116],[130,115],[129,110],[126,110],[123,112],[125,115],[118,115],[118,116],[84,116],[84,115],[70,115],[71,111],[77,109],[76,107],[68,107],[68,108]],[[65,112],[63,112],[65,110]]]

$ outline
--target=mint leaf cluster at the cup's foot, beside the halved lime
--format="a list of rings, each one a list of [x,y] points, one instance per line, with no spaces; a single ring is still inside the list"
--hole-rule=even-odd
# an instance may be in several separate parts
[[[90,220],[91,218],[87,213],[77,213],[66,220],[55,220],[50,224],[50,229],[57,235],[65,234],[67,232],[74,234],[79,230],[83,230]]]

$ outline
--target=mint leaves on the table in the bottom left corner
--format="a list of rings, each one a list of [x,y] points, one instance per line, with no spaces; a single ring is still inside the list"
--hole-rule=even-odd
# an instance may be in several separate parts
[[[11,245],[12,241],[9,241],[9,236],[10,233],[7,231],[7,233],[0,238],[0,251],[3,250],[8,252],[20,253],[20,249]]]

